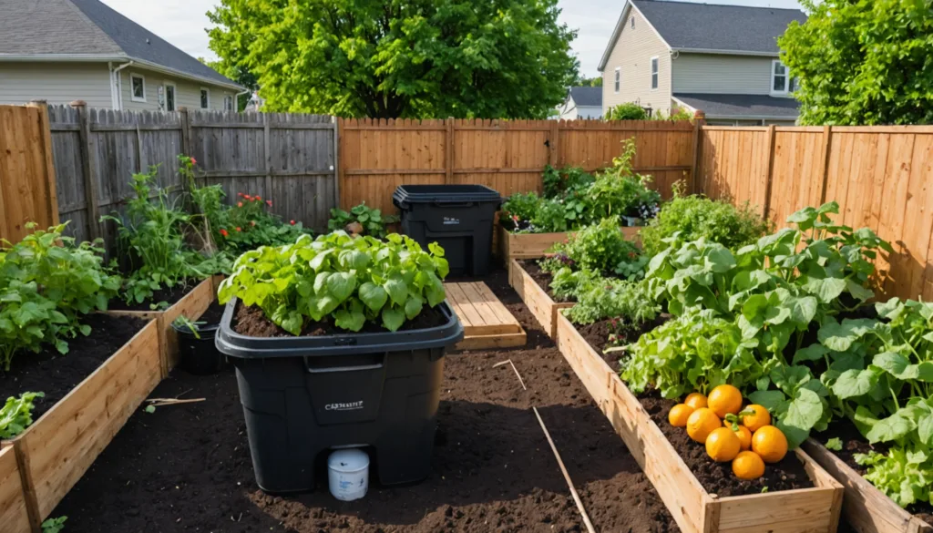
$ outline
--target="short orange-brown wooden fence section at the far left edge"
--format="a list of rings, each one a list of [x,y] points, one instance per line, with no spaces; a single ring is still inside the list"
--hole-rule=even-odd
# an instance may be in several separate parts
[[[58,224],[45,105],[0,105],[0,238],[21,240],[27,222]]]

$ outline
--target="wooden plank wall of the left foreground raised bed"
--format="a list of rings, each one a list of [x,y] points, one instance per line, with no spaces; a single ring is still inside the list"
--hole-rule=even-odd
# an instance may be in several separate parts
[[[9,452],[15,451],[25,508],[34,531],[159,385],[159,338],[158,321],[149,321],[32,426],[3,442],[0,504],[9,498],[8,480],[4,480],[10,468],[7,461],[13,456]],[[6,513],[0,516],[6,517]],[[5,532],[28,530],[28,524],[26,529],[7,529],[6,521],[0,525]]]

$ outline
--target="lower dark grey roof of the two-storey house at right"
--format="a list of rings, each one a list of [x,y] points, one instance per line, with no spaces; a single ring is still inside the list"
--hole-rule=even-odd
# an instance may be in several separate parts
[[[794,98],[765,94],[698,94],[675,92],[674,97],[707,118],[797,119],[800,103]]]

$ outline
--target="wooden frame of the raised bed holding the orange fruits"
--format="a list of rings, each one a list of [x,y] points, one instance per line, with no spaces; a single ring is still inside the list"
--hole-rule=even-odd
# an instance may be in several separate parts
[[[815,487],[717,498],[707,493],[641,403],[564,316],[557,345],[685,533],[834,533],[842,485],[801,450]]]

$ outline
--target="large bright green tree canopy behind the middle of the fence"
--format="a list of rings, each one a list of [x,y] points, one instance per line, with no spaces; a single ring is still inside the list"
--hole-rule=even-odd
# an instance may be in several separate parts
[[[272,111],[544,118],[577,77],[557,0],[221,0],[225,69]]]

